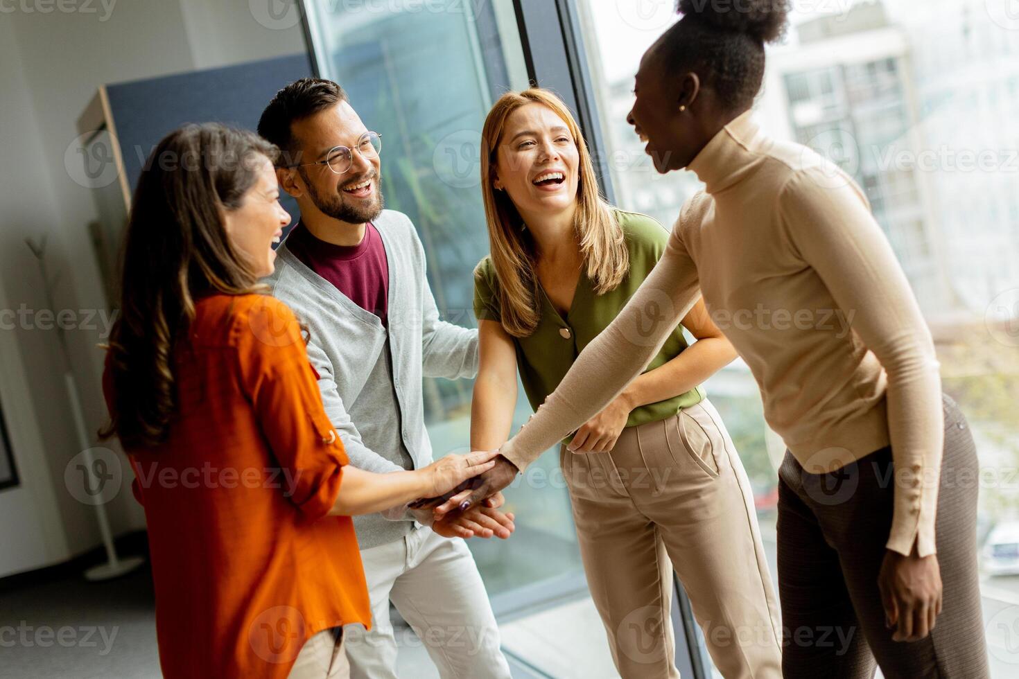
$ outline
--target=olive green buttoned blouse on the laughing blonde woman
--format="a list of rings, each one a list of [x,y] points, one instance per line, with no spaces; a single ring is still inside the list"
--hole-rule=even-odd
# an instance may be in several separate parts
[[[619,287],[596,295],[590,279],[582,273],[566,318],[542,290],[538,302],[541,320],[537,328],[528,337],[514,338],[521,382],[535,410],[555,390],[584,347],[623,309],[665,251],[668,231],[657,221],[622,210],[615,211],[615,217],[623,227],[630,251],[630,272]],[[495,294],[498,285],[495,267],[491,258],[486,257],[474,272],[474,315],[478,321],[501,321],[499,299]],[[683,328],[677,326],[645,372],[668,362],[687,346]],[[627,427],[665,419],[683,408],[699,403],[704,396],[704,389],[697,387],[664,401],[642,405],[630,413]]]

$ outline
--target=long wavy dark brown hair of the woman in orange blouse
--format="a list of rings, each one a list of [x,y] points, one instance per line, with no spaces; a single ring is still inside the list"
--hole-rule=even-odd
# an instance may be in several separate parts
[[[174,347],[195,299],[263,291],[223,215],[240,207],[261,160],[278,153],[253,132],[206,123],[170,132],[149,156],[122,251],[120,317],[108,347],[114,408],[102,438],[116,435],[125,448],[164,442],[177,405]]]

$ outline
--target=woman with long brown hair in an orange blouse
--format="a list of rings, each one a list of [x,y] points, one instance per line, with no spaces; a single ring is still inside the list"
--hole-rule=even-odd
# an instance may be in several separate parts
[[[371,620],[348,515],[493,464],[346,466],[301,326],[257,284],[289,222],[276,153],[221,125],[176,130],[150,157],[127,227],[103,435],[120,438],[145,506],[168,679],[347,676],[341,626]]]

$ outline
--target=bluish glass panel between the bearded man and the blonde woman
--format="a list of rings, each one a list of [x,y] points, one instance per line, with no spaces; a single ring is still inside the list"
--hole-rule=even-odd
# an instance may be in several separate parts
[[[449,0],[373,9],[373,3],[322,0],[309,11],[322,75],[342,84],[365,124],[385,139],[385,204],[416,225],[443,319],[476,327],[473,270],[488,253],[481,126],[499,94],[527,86],[512,4]],[[472,387],[470,380],[426,378],[425,416],[436,457],[468,447]],[[515,431],[530,413],[521,389]],[[519,595],[550,579],[584,587],[557,469],[557,455],[546,454],[506,490],[506,510],[517,514],[512,540],[468,541],[490,596]]]

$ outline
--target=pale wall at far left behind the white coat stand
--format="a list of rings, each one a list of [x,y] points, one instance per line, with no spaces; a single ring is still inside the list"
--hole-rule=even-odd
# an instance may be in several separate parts
[[[245,0],[120,0],[110,11],[99,2],[85,5],[95,13],[24,11],[24,4],[32,5],[11,5],[14,11],[0,14],[0,304],[11,309],[22,302],[35,309],[46,306],[35,259],[23,239],[47,233],[49,265],[60,274],[56,308],[105,309],[87,228],[97,217],[95,204],[64,161],[77,136],[75,121],[96,88],[299,53],[304,50],[301,27],[267,29],[253,14],[255,3]],[[100,539],[93,510],[74,500],[63,483],[64,468],[79,447],[56,332],[16,328],[0,333],[7,340],[0,341],[0,365],[19,366],[25,378],[19,386],[5,373],[0,390],[8,423],[17,432],[12,434],[15,462],[23,477],[19,491],[0,491],[4,575],[45,565],[8,556],[33,544],[38,548],[30,534],[37,528],[52,543],[33,552],[45,554],[45,562],[91,549]],[[103,354],[96,347],[101,335],[98,328],[67,333],[91,432],[106,419],[100,386]],[[12,407],[17,401],[25,407]],[[124,471],[129,479],[129,470]],[[46,487],[49,493],[40,491]],[[56,511],[41,513],[40,503]],[[108,511],[115,533],[144,526],[144,514],[126,483]],[[42,523],[26,526],[25,516]]]

